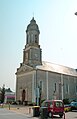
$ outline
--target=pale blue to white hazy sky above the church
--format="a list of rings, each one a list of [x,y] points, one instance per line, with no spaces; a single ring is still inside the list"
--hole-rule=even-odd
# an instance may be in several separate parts
[[[0,0],[0,87],[15,91],[26,28],[34,16],[42,60],[77,69],[77,0]]]

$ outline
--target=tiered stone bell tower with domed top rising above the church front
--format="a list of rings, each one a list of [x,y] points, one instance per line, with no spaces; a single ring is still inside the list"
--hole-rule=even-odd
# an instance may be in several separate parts
[[[33,17],[26,30],[26,45],[23,50],[23,64],[32,67],[42,64],[42,51],[39,45],[39,34],[39,27]]]

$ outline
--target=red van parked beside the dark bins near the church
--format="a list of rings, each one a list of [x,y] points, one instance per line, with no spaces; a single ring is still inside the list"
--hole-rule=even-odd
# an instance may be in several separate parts
[[[46,100],[42,103],[42,107],[47,107],[48,116],[59,115],[61,118],[64,114],[64,104],[62,100]]]

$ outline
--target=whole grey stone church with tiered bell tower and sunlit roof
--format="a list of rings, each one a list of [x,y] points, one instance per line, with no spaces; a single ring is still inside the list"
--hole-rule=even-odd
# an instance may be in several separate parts
[[[39,105],[46,99],[77,99],[77,69],[42,61],[39,34],[33,17],[26,29],[23,62],[16,72],[16,101]]]

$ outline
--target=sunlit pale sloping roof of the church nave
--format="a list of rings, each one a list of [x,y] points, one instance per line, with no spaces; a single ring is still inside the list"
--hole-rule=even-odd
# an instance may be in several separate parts
[[[46,62],[46,61],[43,61],[42,65],[38,65],[36,66],[36,68],[40,70],[45,70],[45,71],[51,71],[51,72],[56,72],[56,73],[61,73],[61,74],[66,74],[66,75],[77,76],[76,69],[50,63],[50,62]]]

